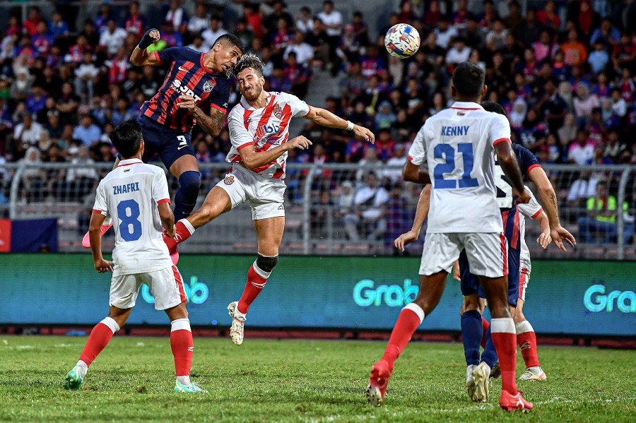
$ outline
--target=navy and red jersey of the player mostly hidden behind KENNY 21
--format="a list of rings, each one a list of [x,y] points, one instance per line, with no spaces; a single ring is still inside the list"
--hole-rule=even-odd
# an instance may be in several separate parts
[[[512,150],[514,155],[517,156],[517,162],[519,162],[519,169],[522,175],[529,178],[530,171],[535,167],[541,167],[538,160],[530,150],[519,144],[512,144]],[[497,185],[497,202],[499,203],[501,211],[501,219],[503,221],[503,228],[505,236],[508,239],[508,244],[513,249],[520,249],[519,243],[520,231],[519,231],[519,209],[514,203],[517,200],[517,196],[512,195],[512,184],[503,173],[499,162],[495,160],[495,184]]]

